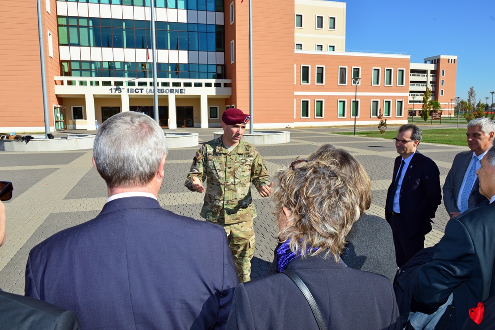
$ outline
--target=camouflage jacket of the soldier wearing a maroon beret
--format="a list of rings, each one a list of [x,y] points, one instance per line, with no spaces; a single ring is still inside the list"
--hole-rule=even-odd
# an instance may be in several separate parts
[[[229,153],[222,137],[206,142],[196,152],[184,184],[190,190],[193,177],[201,182],[207,179],[201,217],[219,224],[254,219],[251,182],[258,191],[270,184],[263,159],[252,144],[241,140]]]

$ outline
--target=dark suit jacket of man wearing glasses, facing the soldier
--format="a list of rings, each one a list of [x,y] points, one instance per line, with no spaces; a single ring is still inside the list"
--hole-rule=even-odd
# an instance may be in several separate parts
[[[394,163],[392,183],[387,191],[385,219],[389,223],[392,218],[392,214],[388,211],[389,197],[391,194],[395,194],[395,191],[392,190],[394,190],[401,161],[402,156],[398,156]],[[402,225],[400,228],[393,228],[393,230],[402,231],[408,239],[415,239],[428,234],[432,230],[430,219],[435,218],[435,212],[441,202],[442,189],[440,188],[440,171],[437,164],[416,151],[412,155],[400,187],[399,207]]]

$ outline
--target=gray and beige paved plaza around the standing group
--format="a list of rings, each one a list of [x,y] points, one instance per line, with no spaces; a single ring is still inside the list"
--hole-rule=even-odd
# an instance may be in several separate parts
[[[442,125],[447,128],[447,125]],[[455,127],[455,126],[454,126]],[[425,127],[426,128],[426,127]],[[465,125],[462,125],[465,129]],[[389,129],[397,129],[389,127]],[[199,141],[209,141],[213,132],[221,129],[188,129],[199,133]],[[288,166],[296,157],[307,156],[321,144],[333,143],[353,154],[368,171],[372,180],[373,203],[368,213],[384,217],[387,188],[392,181],[394,159],[393,141],[332,134],[337,128],[288,129],[291,142],[257,146],[266,167],[273,176],[281,166]],[[351,129],[347,129],[351,130]],[[363,130],[360,128],[360,130]],[[376,127],[371,128],[376,130]],[[186,130],[177,129],[177,132]],[[423,131],[423,136],[428,131]],[[165,163],[165,180],[159,202],[168,210],[201,220],[199,211],[203,193],[184,187],[187,173],[199,147],[171,149]],[[467,146],[420,143],[418,150],[438,165],[441,184],[456,153]],[[0,288],[24,294],[24,272],[30,249],[65,228],[94,218],[105,203],[107,190],[103,179],[93,168],[93,150],[65,152],[13,153],[0,151],[0,180],[11,181],[14,197],[5,203],[7,209],[7,241],[0,248]],[[254,189],[255,190],[255,189]],[[251,278],[265,276],[277,245],[275,217],[270,198],[253,192],[258,217],[254,219],[256,251],[252,260]],[[433,232],[427,245],[438,242],[448,220],[443,205],[434,219]],[[369,233],[373,235],[373,233]],[[144,241],[143,244],[147,242]],[[163,251],[174,253],[174,251]],[[64,265],[60,265],[64,267]]]

